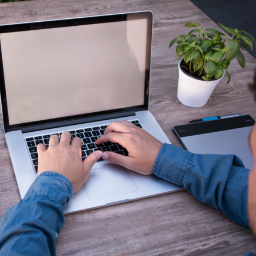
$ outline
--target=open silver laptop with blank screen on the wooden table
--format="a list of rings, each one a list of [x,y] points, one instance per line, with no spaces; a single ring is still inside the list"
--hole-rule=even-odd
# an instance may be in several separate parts
[[[3,125],[21,198],[37,178],[36,146],[53,134],[81,137],[82,159],[113,121],[131,121],[170,143],[148,111],[152,18],[143,11],[0,26]],[[112,143],[100,150],[128,155]],[[64,212],[180,189],[102,160]]]

